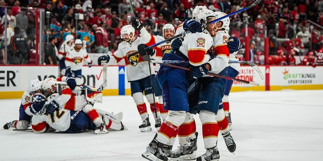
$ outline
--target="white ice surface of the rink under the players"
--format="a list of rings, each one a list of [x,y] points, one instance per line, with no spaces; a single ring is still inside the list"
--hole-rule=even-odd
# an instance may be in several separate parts
[[[236,92],[229,100],[237,149],[235,155],[230,153],[219,136],[220,160],[323,160],[323,90]],[[130,96],[103,97],[103,104],[94,105],[123,112],[129,129],[100,135],[4,130],[5,123],[18,119],[20,100],[0,100],[0,105],[0,160],[144,160],[141,153],[156,132],[139,131],[140,116]],[[201,124],[198,117],[195,120],[201,155]],[[176,140],[173,149],[177,146]]]

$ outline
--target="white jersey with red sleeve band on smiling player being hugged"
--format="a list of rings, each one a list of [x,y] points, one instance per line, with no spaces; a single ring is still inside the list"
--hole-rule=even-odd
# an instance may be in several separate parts
[[[229,66],[230,51],[227,46],[230,35],[225,31],[217,32],[213,37],[213,51],[216,53],[216,57],[210,60],[208,63],[211,65],[210,72],[220,73],[223,69]]]

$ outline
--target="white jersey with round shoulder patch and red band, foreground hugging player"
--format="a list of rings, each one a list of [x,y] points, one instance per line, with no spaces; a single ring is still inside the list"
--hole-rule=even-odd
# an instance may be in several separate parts
[[[198,33],[187,33],[184,35],[179,51],[188,57],[190,64],[198,66],[209,61],[210,56],[205,53],[212,44],[213,39],[206,30]]]

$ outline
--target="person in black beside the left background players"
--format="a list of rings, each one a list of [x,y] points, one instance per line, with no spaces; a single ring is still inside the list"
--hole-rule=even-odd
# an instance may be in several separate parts
[[[45,64],[58,64],[55,43],[57,43],[55,37],[48,38],[48,43],[45,46]]]

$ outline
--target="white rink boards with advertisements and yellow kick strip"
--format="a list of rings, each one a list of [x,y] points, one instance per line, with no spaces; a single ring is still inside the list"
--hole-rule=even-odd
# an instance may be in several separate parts
[[[238,91],[277,91],[292,90],[322,90],[323,66],[259,66],[264,75],[259,74],[250,66],[241,66],[237,78],[259,83],[251,86],[234,82],[232,92]],[[31,79],[43,80],[46,77],[57,77],[58,66],[0,66],[0,99],[21,98]],[[99,87],[103,82],[102,66],[83,66],[83,84]],[[107,67],[107,86],[103,96],[130,95],[130,83],[127,82],[125,66]]]

